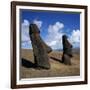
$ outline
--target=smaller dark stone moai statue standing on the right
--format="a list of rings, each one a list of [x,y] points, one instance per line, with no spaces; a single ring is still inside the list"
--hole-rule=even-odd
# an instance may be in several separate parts
[[[72,57],[72,45],[67,40],[67,36],[63,35],[62,37],[63,43],[63,56],[62,62],[67,65],[71,65],[71,57]]]

